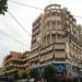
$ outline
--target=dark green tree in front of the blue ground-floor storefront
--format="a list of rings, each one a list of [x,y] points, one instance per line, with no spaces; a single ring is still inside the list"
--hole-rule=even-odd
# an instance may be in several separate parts
[[[44,75],[47,82],[52,82],[56,78],[56,69],[52,66],[47,66],[44,69]]]

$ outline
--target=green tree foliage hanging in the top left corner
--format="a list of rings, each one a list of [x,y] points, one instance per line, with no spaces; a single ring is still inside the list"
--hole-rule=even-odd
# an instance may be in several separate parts
[[[4,15],[4,12],[8,11],[8,0],[0,0],[0,14]]]

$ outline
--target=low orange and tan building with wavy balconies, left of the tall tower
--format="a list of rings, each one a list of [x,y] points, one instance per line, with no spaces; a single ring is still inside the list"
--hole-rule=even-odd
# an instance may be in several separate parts
[[[21,52],[10,52],[4,59],[4,74],[7,75],[22,75],[23,73],[27,73],[30,70],[30,55],[31,51],[26,51],[24,54]]]

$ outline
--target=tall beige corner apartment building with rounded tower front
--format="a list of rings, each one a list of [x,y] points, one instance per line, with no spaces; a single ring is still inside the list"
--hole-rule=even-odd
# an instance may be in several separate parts
[[[33,23],[32,68],[52,65],[59,74],[79,77],[82,68],[81,33],[67,8],[49,4]]]

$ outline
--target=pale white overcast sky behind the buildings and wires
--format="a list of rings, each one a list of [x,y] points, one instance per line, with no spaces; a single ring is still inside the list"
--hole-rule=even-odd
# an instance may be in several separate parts
[[[8,11],[20,22],[26,32],[14,21],[9,12],[0,15],[0,67],[3,58],[10,51],[24,52],[31,50],[32,23],[44,12],[44,10],[21,5],[12,1],[26,5],[44,9],[51,3],[61,4],[61,8],[75,15],[78,24],[82,24],[82,0],[8,0]]]

